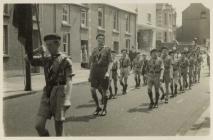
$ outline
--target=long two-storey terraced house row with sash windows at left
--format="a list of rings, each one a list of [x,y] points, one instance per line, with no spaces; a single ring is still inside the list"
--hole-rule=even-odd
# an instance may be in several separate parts
[[[18,41],[17,29],[12,25],[13,4],[4,5],[4,56],[5,76],[22,75],[24,49]],[[106,46],[117,53],[122,48],[136,46],[136,13],[108,4],[40,4],[41,35],[57,33],[62,37],[61,50],[73,63],[88,63],[92,49],[97,46],[95,36],[103,33]],[[32,18],[33,47],[39,46],[39,32],[35,12]],[[32,72],[41,72],[32,68]]]

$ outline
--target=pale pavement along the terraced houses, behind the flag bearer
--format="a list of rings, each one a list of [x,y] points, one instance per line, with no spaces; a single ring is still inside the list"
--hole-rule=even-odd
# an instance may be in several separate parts
[[[89,70],[80,67],[79,63],[73,63],[73,69],[75,76],[73,77],[73,84],[80,84],[88,81]],[[3,99],[10,99],[30,94],[38,93],[42,91],[45,85],[44,74],[32,74],[31,75],[31,91],[25,91],[25,77],[14,76],[5,77],[3,82]]]

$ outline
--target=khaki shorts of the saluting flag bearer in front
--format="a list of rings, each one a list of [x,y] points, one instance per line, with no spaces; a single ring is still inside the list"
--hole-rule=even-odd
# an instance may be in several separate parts
[[[41,97],[40,107],[38,110],[38,115],[43,116],[47,119],[51,119],[53,116],[56,121],[65,120],[65,112],[70,106],[64,106],[65,104],[65,86],[54,86],[50,95],[50,98],[47,97],[46,91]]]

